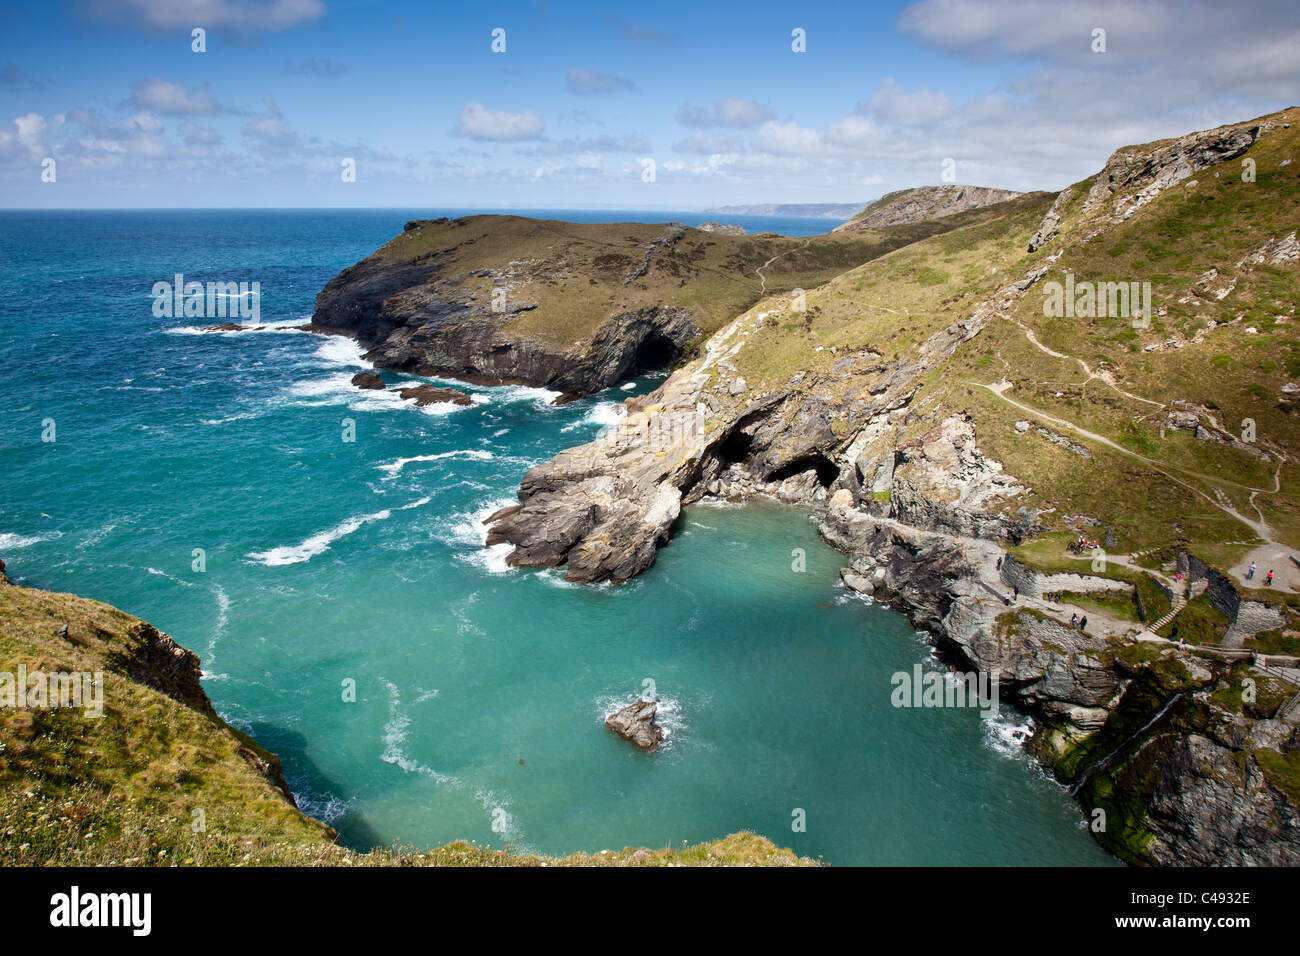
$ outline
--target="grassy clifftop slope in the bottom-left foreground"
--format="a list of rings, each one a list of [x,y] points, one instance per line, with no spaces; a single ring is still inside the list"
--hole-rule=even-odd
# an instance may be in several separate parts
[[[66,635],[64,627],[66,626]],[[108,605],[0,574],[0,671],[103,671],[103,717],[0,708],[0,866],[802,866],[754,834],[549,858],[454,843],[356,853],[212,709],[198,658]]]

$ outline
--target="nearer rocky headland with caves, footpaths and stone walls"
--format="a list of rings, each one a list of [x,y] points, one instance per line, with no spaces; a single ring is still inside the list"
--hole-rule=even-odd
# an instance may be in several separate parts
[[[1283,592],[1261,592],[1239,567],[1261,545],[1300,555],[1282,477],[1300,455],[1296,273],[1257,255],[1300,213],[1294,112],[1121,150],[1061,194],[993,199],[991,219],[764,297],[597,441],[533,468],[489,544],[618,583],[684,505],[807,506],[846,587],[998,678],[1109,849],[1300,862],[1300,585],[1283,568]],[[1247,155],[1268,170],[1256,193],[1227,165]],[[1149,256],[1173,269],[1152,321],[1050,321],[1050,282],[1141,277]],[[1212,298],[1214,261],[1238,265]],[[1284,362],[1234,358],[1252,349]],[[1225,424],[1243,420],[1258,433]]]

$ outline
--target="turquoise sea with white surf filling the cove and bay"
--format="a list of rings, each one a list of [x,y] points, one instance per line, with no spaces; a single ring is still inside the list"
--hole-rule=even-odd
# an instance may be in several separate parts
[[[796,509],[688,509],[621,588],[482,549],[480,519],[532,464],[656,380],[563,407],[351,388],[355,345],[285,326],[412,215],[429,212],[0,213],[10,576],[194,649],[221,714],[351,845],[562,853],[750,829],[835,864],[1110,862],[1009,745],[1014,721],[890,706],[890,675],[928,648],[837,588],[841,555]],[[274,328],[156,319],[150,289],[176,272],[260,281]],[[602,726],[647,679],[672,730],[658,754]]]

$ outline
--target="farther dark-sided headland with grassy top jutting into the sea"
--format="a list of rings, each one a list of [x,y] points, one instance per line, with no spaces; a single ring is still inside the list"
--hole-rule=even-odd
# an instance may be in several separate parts
[[[381,368],[581,397],[671,368],[764,293],[807,289],[958,222],[790,238],[680,222],[412,220],[332,278],[311,329]]]

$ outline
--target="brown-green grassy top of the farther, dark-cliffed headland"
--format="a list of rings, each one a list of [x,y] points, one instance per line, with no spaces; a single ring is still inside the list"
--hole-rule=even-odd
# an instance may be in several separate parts
[[[360,268],[428,264],[441,295],[520,308],[507,329],[569,345],[610,316],[681,307],[711,333],[763,294],[811,289],[861,263],[959,228],[982,211],[849,234],[723,235],[680,224],[562,222],[523,216],[419,220]]]

